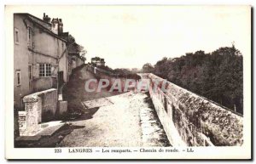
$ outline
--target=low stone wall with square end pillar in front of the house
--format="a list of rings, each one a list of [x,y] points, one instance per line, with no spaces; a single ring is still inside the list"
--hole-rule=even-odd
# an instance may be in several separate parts
[[[32,136],[39,132],[41,122],[54,119],[58,94],[55,88],[32,93],[23,98],[25,111],[19,111],[20,136]]]

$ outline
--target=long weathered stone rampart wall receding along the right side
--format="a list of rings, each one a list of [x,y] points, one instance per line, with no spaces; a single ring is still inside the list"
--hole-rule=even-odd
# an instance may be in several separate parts
[[[243,118],[208,99],[172,82],[161,89],[161,79],[143,74],[150,80],[150,97],[172,145],[234,146],[243,144]],[[154,79],[159,80],[155,84]],[[154,85],[157,89],[154,91]]]

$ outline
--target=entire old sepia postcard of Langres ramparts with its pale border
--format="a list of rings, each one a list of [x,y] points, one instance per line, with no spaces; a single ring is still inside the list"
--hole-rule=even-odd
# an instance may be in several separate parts
[[[7,159],[252,158],[251,7],[5,7]]]

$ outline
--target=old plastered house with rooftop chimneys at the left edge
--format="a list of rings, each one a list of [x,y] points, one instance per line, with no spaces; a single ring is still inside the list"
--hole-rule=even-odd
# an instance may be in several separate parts
[[[68,80],[67,40],[61,19],[14,14],[15,109],[27,94],[58,88]]]

